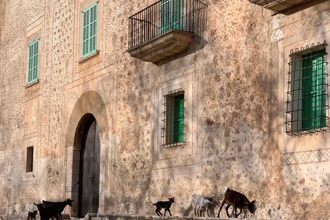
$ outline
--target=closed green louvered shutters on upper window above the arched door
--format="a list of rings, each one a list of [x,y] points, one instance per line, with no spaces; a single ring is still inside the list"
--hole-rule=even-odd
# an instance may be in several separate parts
[[[83,11],[83,58],[96,52],[98,3]]]

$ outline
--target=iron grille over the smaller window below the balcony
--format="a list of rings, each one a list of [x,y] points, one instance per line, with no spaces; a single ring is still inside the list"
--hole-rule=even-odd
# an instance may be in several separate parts
[[[168,91],[164,95],[164,111],[163,111],[163,126],[162,126],[162,146],[164,148],[175,148],[186,144],[184,137],[186,133],[184,129],[186,124],[184,120],[184,90],[175,89]]]

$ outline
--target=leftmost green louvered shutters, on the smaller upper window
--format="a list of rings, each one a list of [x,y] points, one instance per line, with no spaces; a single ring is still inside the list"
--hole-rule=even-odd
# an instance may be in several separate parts
[[[39,40],[29,45],[28,84],[38,79]]]

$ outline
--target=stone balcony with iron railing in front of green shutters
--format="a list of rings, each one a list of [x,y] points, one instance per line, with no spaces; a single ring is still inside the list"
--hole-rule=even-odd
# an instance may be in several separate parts
[[[129,54],[156,63],[185,52],[206,20],[198,0],[161,0],[129,17]]]

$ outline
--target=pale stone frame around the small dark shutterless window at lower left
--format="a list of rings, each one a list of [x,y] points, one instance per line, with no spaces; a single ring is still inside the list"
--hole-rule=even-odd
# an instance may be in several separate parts
[[[28,148],[33,147],[33,164],[32,164],[32,172],[26,172],[26,164],[28,162]],[[36,162],[36,151],[38,149],[37,146],[37,137],[30,137],[23,142],[23,182],[25,184],[33,184],[37,179],[37,162]]]

